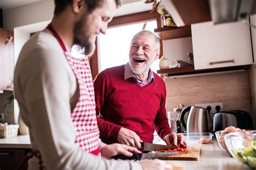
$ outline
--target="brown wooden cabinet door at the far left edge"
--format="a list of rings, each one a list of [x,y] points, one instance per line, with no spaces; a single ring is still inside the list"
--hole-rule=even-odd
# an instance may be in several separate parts
[[[8,90],[14,76],[14,32],[0,29],[0,90]]]

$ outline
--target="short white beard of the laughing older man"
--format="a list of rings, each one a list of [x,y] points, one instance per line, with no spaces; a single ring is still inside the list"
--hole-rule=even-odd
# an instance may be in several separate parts
[[[152,62],[153,62],[154,60],[149,61],[149,60],[146,58],[146,56],[144,56],[144,55],[137,56],[137,58],[140,58],[140,59],[145,60],[145,61],[144,61],[145,63],[144,63],[143,66],[136,66],[136,65],[133,65],[133,62],[135,62],[135,61],[133,60],[134,57],[133,57],[133,58],[130,58],[129,65],[130,65],[130,67],[131,67],[131,70],[132,70],[132,72],[133,72],[134,74],[144,74],[147,70],[150,69],[150,66],[151,66],[151,64],[152,64]]]

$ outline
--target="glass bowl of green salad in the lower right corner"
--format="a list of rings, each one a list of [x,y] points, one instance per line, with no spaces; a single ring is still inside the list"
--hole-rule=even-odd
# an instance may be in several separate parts
[[[256,131],[231,132],[224,136],[225,144],[233,158],[256,168]]]

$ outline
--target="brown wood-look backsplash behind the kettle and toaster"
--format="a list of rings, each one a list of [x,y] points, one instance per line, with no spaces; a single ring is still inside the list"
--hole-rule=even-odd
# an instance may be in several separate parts
[[[254,68],[256,65],[254,65]],[[254,69],[255,73],[256,68]],[[254,74],[254,101],[256,93]],[[223,103],[225,111],[244,110],[252,114],[250,81],[248,70],[238,73],[224,73],[192,77],[165,79],[166,111],[197,103]],[[254,113],[255,102],[254,102]],[[213,116],[213,115],[212,115]],[[255,116],[254,116],[255,117]],[[254,121],[255,126],[255,121]]]

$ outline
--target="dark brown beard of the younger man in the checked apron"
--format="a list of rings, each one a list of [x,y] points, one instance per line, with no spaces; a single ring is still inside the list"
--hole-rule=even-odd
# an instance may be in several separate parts
[[[95,51],[95,42],[90,42],[90,35],[86,34],[84,30],[86,23],[86,15],[83,15],[74,26],[73,34],[73,43],[76,45],[76,50],[85,55],[92,55]]]

